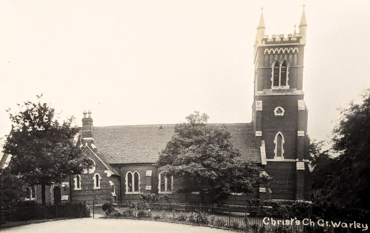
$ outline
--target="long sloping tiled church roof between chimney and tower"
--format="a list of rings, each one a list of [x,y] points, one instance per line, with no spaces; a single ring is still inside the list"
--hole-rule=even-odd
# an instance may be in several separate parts
[[[247,161],[260,163],[259,149],[255,149],[252,123],[243,124],[207,124],[227,128],[234,146],[240,149]],[[106,163],[138,164],[155,163],[158,153],[166,146],[174,134],[174,125],[128,125],[94,127],[94,144],[99,157]]]

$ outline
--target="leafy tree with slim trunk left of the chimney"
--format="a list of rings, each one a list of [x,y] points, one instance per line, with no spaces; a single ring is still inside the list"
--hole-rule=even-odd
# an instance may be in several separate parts
[[[41,185],[42,204],[45,204],[45,186],[59,182],[70,174],[82,172],[82,150],[75,146],[72,127],[74,117],[63,123],[56,119],[55,109],[46,103],[24,102],[19,112],[9,114],[12,129],[4,145],[11,154],[9,168],[30,186]],[[8,110],[8,112],[10,109]]]

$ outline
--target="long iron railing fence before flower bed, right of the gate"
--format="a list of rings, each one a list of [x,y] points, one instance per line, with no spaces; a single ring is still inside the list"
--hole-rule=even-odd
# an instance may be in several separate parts
[[[310,216],[290,216],[272,211],[249,211],[248,206],[152,203],[143,200],[123,202],[94,201],[92,217],[148,219],[183,224],[203,225],[250,233],[348,233],[358,229],[333,227],[331,221]],[[268,207],[266,207],[268,208]],[[338,222],[335,222],[338,223]]]

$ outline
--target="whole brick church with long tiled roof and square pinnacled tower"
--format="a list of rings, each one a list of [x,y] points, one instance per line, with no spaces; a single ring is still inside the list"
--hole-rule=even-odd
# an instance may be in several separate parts
[[[261,13],[254,45],[252,122],[209,124],[226,127],[242,159],[256,163],[275,180],[253,194],[231,195],[229,203],[251,198],[311,200],[308,109],[302,90],[306,28],[303,9],[299,33],[295,29],[293,34],[269,37]],[[197,193],[172,192],[176,180],[158,172],[159,152],[174,134],[174,125],[93,127],[92,123],[91,111],[84,112],[75,137],[85,154],[84,173],[50,187],[48,203],[137,200],[143,192],[171,195],[179,202],[199,201]],[[41,201],[41,188],[33,195]]]

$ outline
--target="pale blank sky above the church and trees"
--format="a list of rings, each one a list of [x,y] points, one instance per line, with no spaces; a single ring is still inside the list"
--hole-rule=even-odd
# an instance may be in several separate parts
[[[5,109],[43,100],[94,126],[247,123],[253,45],[307,18],[303,90],[308,133],[326,140],[338,107],[370,87],[370,2],[302,0],[0,0],[0,137]],[[298,28],[297,28],[298,31]]]

